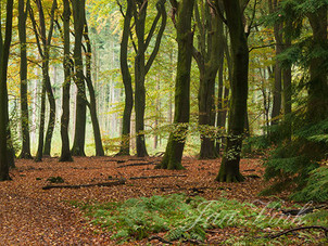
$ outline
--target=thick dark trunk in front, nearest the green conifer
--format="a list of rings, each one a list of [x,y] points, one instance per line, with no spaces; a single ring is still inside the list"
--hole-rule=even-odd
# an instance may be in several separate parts
[[[247,114],[249,50],[239,0],[224,0],[224,7],[230,34],[234,68],[227,146],[216,180],[239,182],[243,180],[239,171],[239,161]]]

